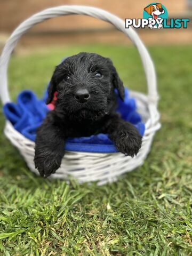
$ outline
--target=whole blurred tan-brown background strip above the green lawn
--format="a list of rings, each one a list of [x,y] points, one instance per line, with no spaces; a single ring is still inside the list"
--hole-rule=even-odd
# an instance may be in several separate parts
[[[161,1],[166,6],[170,18],[190,18],[191,0]],[[0,0],[0,47],[5,38],[20,22],[30,15],[47,7],[63,4],[82,4],[100,7],[122,19],[142,18],[143,8],[150,1],[146,0]],[[148,44],[186,44],[192,42],[192,29],[140,29],[141,38]],[[21,40],[21,44],[59,44],[59,43],[111,43],[127,44],[125,36],[103,21],[78,15],[54,18],[30,29]]]

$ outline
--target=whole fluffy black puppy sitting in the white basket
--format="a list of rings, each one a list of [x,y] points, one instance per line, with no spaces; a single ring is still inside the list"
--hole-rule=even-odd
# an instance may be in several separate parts
[[[55,68],[46,103],[58,92],[55,109],[37,130],[35,167],[49,176],[61,165],[68,137],[108,133],[125,155],[137,155],[141,136],[115,113],[117,97],[124,100],[124,87],[113,63],[95,53],[79,53]]]

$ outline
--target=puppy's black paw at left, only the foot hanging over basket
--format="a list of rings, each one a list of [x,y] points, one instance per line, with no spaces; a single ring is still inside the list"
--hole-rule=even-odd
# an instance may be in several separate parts
[[[62,156],[53,156],[46,154],[46,157],[36,155],[34,158],[35,168],[39,171],[42,177],[49,177],[52,173],[55,173],[62,161]]]

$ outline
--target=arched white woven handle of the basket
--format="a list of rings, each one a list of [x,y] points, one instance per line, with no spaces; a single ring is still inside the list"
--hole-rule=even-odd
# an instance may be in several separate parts
[[[17,44],[19,38],[26,33],[26,31],[33,27],[35,24],[42,22],[44,20],[59,17],[62,15],[71,15],[71,14],[81,14],[88,15],[103,21],[107,21],[113,24],[118,30],[122,31],[127,37],[131,39],[133,44],[137,47],[142,64],[145,70],[145,75],[147,78],[148,86],[148,97],[149,101],[157,105],[158,102],[158,93],[157,93],[157,84],[156,84],[156,73],[153,61],[150,58],[150,55],[143,45],[138,34],[132,28],[125,29],[125,23],[122,19],[116,17],[114,14],[111,14],[107,11],[104,11],[99,8],[83,6],[83,5],[63,5],[45,9],[41,12],[38,12],[23,21],[11,34],[10,38],[6,42],[1,58],[0,58],[0,97],[4,103],[10,101],[9,90],[7,86],[7,68],[11,53]]]

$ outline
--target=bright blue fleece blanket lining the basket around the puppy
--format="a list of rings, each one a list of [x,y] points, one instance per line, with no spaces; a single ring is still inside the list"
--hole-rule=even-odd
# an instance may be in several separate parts
[[[37,99],[32,91],[25,90],[19,93],[17,103],[9,102],[3,106],[4,115],[12,123],[14,129],[29,140],[35,141],[37,128],[42,124],[47,112],[50,111],[45,103],[46,97],[47,90],[41,100]],[[141,116],[137,113],[135,99],[129,97],[127,89],[125,89],[124,101],[118,98],[116,111],[122,119],[132,123],[143,136],[145,124],[142,123]],[[118,152],[108,134],[103,133],[90,137],[68,138],[65,149],[92,153]]]

